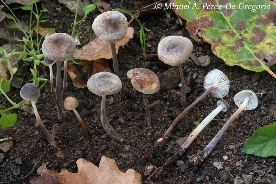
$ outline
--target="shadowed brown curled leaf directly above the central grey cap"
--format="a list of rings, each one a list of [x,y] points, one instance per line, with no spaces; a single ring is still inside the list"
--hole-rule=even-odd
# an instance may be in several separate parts
[[[79,62],[87,63],[83,64],[81,71],[79,70],[79,65],[73,64],[71,61],[67,61],[67,73],[73,81],[75,87],[86,87],[86,82],[88,80],[87,76],[91,76],[102,71],[111,72],[106,59],[97,59],[94,61],[79,60]]]

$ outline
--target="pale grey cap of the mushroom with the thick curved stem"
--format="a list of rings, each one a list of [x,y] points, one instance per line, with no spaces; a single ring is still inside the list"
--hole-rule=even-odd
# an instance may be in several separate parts
[[[122,82],[117,75],[103,71],[92,75],[87,81],[87,87],[99,96],[112,95],[121,91]]]

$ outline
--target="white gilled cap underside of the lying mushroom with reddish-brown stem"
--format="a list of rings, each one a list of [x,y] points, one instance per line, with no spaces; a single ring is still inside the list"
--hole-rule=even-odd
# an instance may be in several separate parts
[[[227,76],[218,69],[210,71],[204,79],[203,87],[205,91],[213,85],[217,86],[217,88],[211,92],[213,97],[223,98],[228,94],[230,88],[229,80]]]

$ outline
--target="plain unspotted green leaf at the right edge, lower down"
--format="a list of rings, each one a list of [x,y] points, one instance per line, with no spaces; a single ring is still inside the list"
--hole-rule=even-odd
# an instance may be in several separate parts
[[[276,156],[276,123],[261,127],[244,145],[243,152],[256,156]]]

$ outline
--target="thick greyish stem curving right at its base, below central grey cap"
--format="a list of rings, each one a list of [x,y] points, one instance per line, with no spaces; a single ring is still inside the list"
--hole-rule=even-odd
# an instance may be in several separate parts
[[[105,129],[105,132],[107,135],[117,141],[123,141],[123,139],[120,138],[118,133],[112,128],[112,126],[108,123],[106,115],[105,115],[105,99],[106,95],[102,95],[102,105],[101,105],[101,121],[102,121],[102,126]]]

